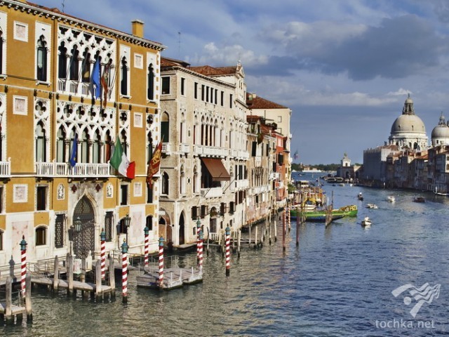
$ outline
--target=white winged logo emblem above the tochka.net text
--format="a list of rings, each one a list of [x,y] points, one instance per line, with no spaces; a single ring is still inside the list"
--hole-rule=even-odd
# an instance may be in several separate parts
[[[413,284],[404,284],[403,286],[399,286],[398,288],[391,291],[394,297],[398,297],[404,291],[408,291],[410,296],[417,301],[415,306],[410,310],[410,315],[415,318],[418,311],[420,311],[422,305],[424,303],[432,303],[434,298],[438,298],[440,295],[440,287],[441,284],[435,284],[434,286],[429,286],[428,283],[425,283],[421,286],[420,289],[417,289]],[[404,304],[409,305],[412,303],[412,298],[406,296],[404,297]]]

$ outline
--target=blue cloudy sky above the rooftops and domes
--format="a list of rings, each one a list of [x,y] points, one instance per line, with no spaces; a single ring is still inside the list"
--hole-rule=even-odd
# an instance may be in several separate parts
[[[292,110],[295,163],[384,145],[410,94],[427,136],[449,120],[449,0],[34,0],[166,46],[192,66],[239,60],[247,90]]]

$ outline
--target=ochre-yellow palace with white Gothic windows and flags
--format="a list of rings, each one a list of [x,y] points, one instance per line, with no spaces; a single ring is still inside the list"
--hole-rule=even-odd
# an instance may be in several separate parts
[[[95,258],[103,230],[108,253],[123,239],[143,253],[147,226],[156,251],[159,191],[146,178],[165,47],[144,39],[143,22],[130,27],[1,1],[0,266],[20,265],[22,237],[28,261],[71,250]],[[135,178],[109,165],[118,135]]]

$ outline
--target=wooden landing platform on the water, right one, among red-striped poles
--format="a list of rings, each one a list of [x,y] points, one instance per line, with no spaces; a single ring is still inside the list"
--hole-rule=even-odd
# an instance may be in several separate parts
[[[159,269],[145,268],[143,275],[135,277],[138,286],[170,290],[203,282],[203,272],[194,267],[170,267],[163,270],[163,285],[159,285]]]

